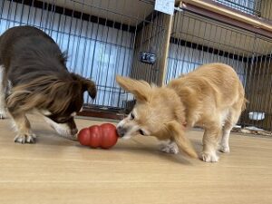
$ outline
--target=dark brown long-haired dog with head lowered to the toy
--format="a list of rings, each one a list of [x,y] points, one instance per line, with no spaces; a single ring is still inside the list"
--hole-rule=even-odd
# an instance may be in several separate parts
[[[96,95],[95,84],[69,73],[65,55],[53,39],[32,26],[17,26],[0,36],[0,117],[5,108],[15,121],[16,142],[34,142],[25,114],[43,114],[55,131],[76,139],[73,116],[83,107],[83,92]]]

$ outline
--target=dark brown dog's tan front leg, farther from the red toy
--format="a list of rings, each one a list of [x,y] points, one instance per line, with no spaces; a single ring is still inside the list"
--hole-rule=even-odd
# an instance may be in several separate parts
[[[15,129],[17,131],[17,135],[15,136],[15,142],[19,143],[34,143],[36,136],[31,131],[30,122],[26,118],[24,113],[13,114],[11,116],[15,122]]]

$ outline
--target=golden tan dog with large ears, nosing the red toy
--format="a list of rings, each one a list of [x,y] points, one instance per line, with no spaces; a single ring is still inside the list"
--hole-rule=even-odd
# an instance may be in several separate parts
[[[136,98],[129,116],[117,125],[121,137],[130,138],[136,134],[155,136],[169,141],[161,151],[178,153],[181,150],[196,158],[197,153],[185,131],[198,125],[205,130],[201,160],[219,160],[220,134],[220,151],[229,152],[229,132],[245,109],[247,100],[237,73],[227,64],[202,65],[163,87],[121,76],[116,79]]]

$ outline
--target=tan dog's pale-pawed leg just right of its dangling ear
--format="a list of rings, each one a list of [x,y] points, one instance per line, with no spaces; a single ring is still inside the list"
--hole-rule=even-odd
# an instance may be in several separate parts
[[[219,161],[217,155],[220,126],[206,127],[203,136],[203,151],[200,153],[200,159],[207,162]]]

